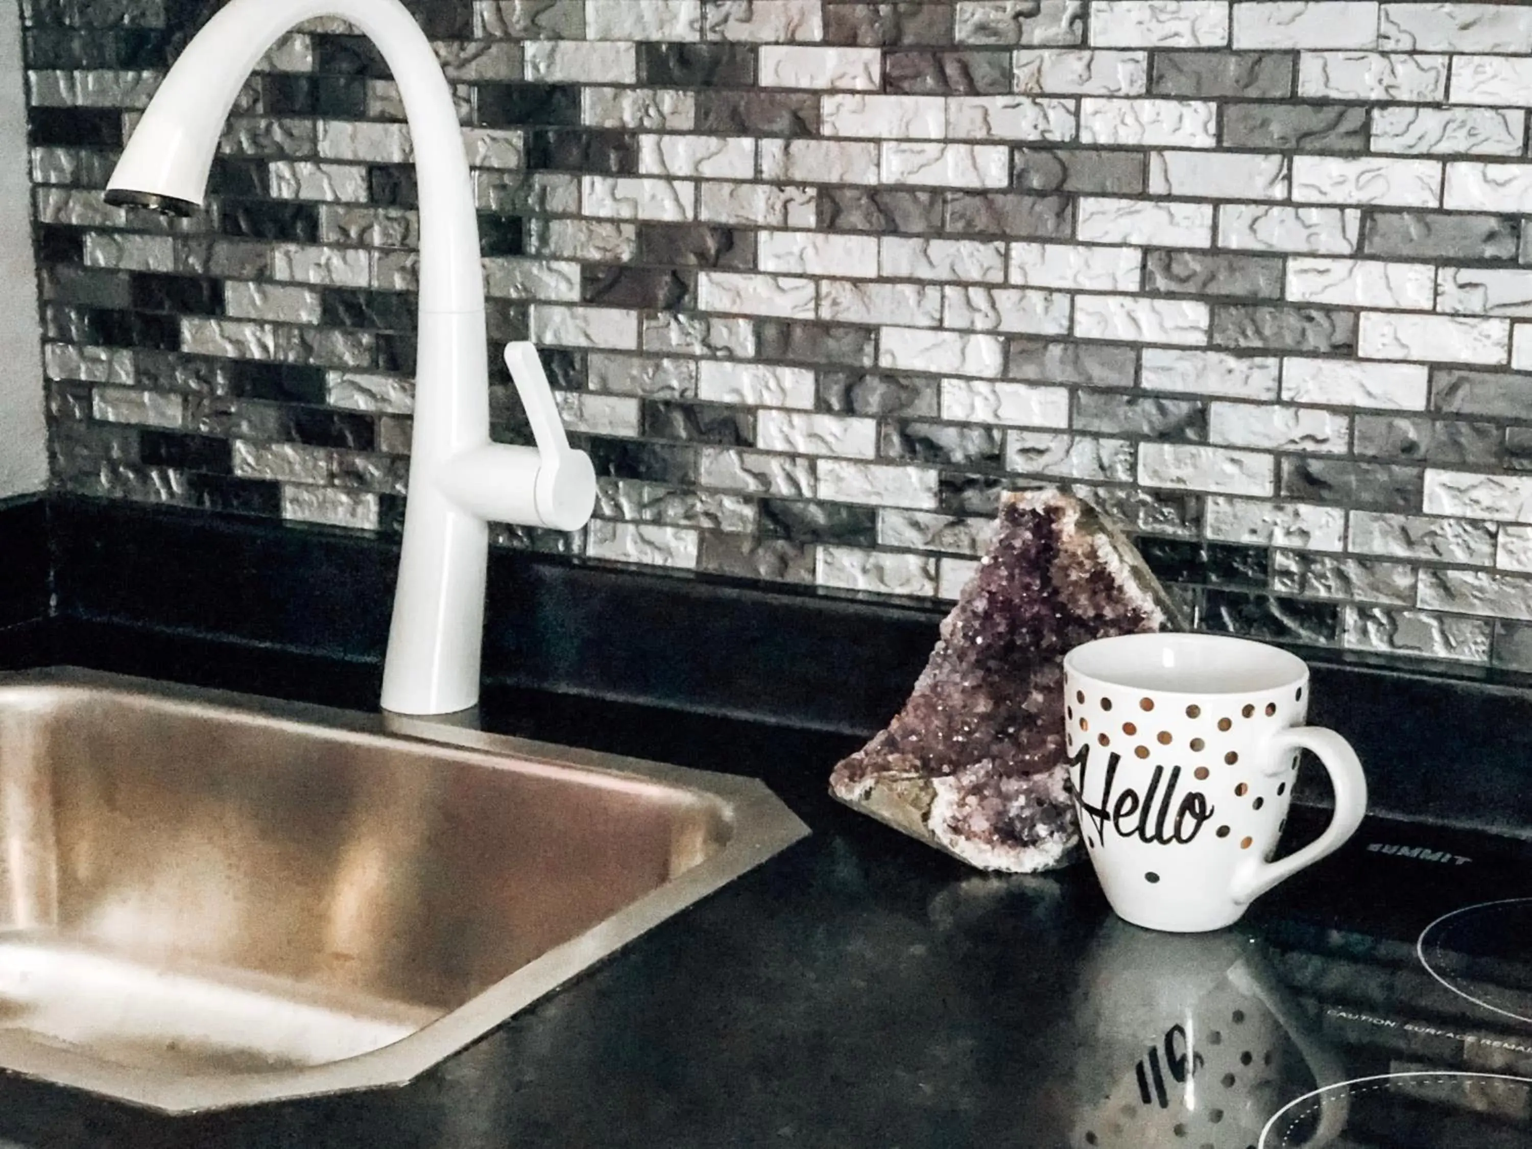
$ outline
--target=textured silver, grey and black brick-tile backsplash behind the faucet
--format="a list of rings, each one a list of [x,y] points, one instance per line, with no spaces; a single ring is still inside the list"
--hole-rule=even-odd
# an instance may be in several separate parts
[[[490,339],[602,473],[588,530],[507,541],[950,597],[999,492],[1060,483],[1209,630],[1532,669],[1532,5],[408,2]],[[288,38],[196,219],[101,199],[214,8],[29,6],[54,478],[395,530],[375,54]]]

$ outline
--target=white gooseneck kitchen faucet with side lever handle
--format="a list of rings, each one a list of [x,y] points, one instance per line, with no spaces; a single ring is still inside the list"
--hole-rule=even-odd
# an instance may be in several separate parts
[[[473,184],[452,92],[398,0],[233,0],[187,44],[123,150],[109,204],[195,211],[224,121],[251,69],[294,25],[340,17],[378,46],[398,84],[420,181],[420,349],[409,502],[383,708],[449,714],[478,702],[489,522],[579,530],[596,501],[530,343],[506,363],[538,446],[489,438],[484,279]]]

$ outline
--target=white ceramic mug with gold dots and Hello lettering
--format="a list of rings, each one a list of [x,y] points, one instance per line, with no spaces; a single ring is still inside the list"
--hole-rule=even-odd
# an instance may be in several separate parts
[[[1219,930],[1362,823],[1362,764],[1334,731],[1304,726],[1308,666],[1295,654],[1216,634],[1123,634],[1075,647],[1063,671],[1080,833],[1120,918]],[[1330,772],[1334,817],[1272,863],[1302,749]]]

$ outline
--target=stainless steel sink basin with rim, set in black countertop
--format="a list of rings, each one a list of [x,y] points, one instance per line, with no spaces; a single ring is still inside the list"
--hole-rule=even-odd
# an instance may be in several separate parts
[[[806,833],[748,778],[0,674],[0,1068],[169,1112],[403,1083]]]

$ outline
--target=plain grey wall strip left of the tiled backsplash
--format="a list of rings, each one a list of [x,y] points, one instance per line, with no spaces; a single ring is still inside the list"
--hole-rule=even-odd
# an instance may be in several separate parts
[[[0,498],[47,483],[17,8],[0,11]]]

